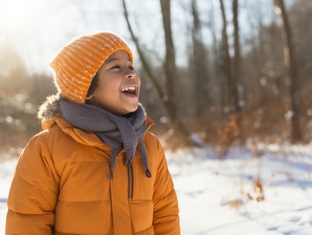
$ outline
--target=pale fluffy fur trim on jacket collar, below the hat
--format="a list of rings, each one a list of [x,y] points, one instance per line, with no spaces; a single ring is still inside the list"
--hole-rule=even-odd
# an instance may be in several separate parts
[[[57,112],[59,112],[59,101],[60,97],[58,95],[51,95],[46,97],[46,100],[40,105],[37,114],[37,118],[40,119],[41,123],[47,123],[56,115]]]

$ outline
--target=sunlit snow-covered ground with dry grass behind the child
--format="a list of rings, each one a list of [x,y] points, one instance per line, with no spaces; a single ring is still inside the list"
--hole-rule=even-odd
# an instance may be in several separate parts
[[[258,157],[256,157],[258,156]],[[312,235],[312,145],[167,153],[182,235]],[[0,235],[16,160],[0,163]]]

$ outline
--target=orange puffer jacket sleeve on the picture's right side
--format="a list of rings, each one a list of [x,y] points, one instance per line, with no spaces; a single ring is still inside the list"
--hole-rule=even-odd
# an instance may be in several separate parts
[[[158,141],[158,164],[154,185],[155,235],[180,235],[179,209],[171,175],[168,171],[164,151]]]

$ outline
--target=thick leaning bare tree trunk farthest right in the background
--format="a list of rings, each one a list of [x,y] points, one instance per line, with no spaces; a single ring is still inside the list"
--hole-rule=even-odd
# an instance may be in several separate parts
[[[284,63],[287,71],[286,87],[289,94],[286,97],[286,104],[288,107],[286,117],[289,122],[292,141],[296,143],[301,140],[302,135],[300,130],[300,85],[294,54],[294,43],[284,0],[274,0],[274,6],[275,12],[279,16],[284,47]]]

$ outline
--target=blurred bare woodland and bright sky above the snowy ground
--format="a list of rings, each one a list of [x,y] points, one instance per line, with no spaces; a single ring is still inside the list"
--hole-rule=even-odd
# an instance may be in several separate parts
[[[165,147],[211,144],[222,157],[246,141],[312,140],[312,0],[25,2],[0,0],[0,154],[41,131],[38,106],[56,93],[49,59],[97,30],[134,51]]]

